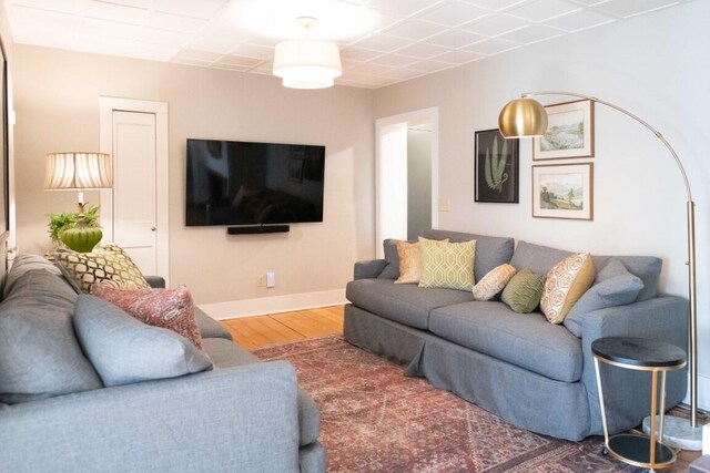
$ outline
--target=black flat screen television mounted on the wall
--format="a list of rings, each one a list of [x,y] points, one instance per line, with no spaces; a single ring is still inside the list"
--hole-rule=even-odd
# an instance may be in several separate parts
[[[323,222],[325,146],[187,140],[187,226]]]

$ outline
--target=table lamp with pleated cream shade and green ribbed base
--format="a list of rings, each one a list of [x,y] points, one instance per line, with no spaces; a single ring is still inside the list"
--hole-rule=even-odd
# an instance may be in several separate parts
[[[106,153],[50,153],[45,157],[44,188],[79,191],[79,219],[73,228],[63,230],[60,239],[74,251],[89,253],[101,241],[103,233],[90,227],[84,218],[84,189],[111,188],[113,167]]]

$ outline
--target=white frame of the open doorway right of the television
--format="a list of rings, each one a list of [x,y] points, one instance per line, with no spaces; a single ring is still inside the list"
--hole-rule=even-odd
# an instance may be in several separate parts
[[[384,250],[382,241],[385,237],[382,232],[382,208],[381,198],[386,195],[386,183],[381,181],[382,166],[387,155],[387,143],[383,140],[388,130],[407,127],[412,123],[423,121],[432,124],[432,228],[439,225],[439,107],[416,110],[400,113],[398,115],[386,116],[375,121],[375,248],[376,257],[383,257]],[[405,142],[406,146],[406,142]],[[406,208],[405,208],[406,215]],[[405,235],[406,239],[406,235]]]

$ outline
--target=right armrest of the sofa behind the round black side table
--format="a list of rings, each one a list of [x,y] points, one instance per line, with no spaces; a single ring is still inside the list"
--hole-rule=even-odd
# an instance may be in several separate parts
[[[601,337],[642,337],[665,341],[687,351],[688,301],[676,296],[660,296],[595,310],[582,319],[581,349],[584,357],[582,382],[587,388],[591,410],[592,432],[601,432],[599,395],[594,367],[591,343]],[[631,429],[646,415],[650,405],[650,376],[600,364],[607,422],[610,433]],[[680,402],[686,395],[687,370],[668,373],[667,407]]]

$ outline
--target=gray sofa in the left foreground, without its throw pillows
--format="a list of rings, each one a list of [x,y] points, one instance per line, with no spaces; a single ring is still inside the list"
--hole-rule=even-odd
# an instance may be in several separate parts
[[[325,471],[318,410],[290,363],[261,362],[197,309],[214,369],[104,388],[77,343],[78,297],[91,298],[39,257],[19,256],[6,278],[0,470]]]

